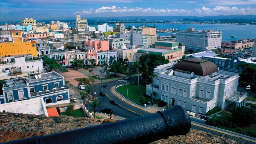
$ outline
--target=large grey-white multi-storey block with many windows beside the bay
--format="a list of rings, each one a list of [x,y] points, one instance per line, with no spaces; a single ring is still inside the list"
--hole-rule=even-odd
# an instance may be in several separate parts
[[[176,41],[185,44],[186,51],[202,52],[221,50],[222,31],[212,30],[176,30]]]

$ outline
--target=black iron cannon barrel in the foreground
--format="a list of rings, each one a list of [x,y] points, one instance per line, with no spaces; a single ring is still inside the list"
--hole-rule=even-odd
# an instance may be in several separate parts
[[[34,136],[7,143],[141,144],[167,139],[173,135],[185,135],[189,132],[190,126],[190,118],[186,110],[179,105],[175,105],[155,114],[50,135]]]

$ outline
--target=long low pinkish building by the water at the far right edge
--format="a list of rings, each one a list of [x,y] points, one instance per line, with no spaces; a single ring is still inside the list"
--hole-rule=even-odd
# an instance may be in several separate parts
[[[222,48],[230,48],[230,49],[244,49],[247,47],[253,47],[254,39],[240,39],[235,41],[225,41],[221,42]]]

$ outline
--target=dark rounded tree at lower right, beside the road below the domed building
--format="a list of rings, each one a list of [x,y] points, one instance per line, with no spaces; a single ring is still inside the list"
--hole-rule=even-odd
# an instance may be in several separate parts
[[[256,113],[252,108],[236,107],[232,110],[232,116],[232,120],[240,126],[249,126],[256,122]]]

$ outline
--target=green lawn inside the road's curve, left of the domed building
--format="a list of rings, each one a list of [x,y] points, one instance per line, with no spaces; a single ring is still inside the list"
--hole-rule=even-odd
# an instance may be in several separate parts
[[[144,93],[146,93],[146,86],[144,85],[139,85],[139,91],[138,91],[138,86],[134,85],[134,84],[128,84],[128,96],[129,96],[129,100],[131,100],[132,102],[139,104],[140,105],[140,96],[143,96]],[[119,86],[116,89],[119,93],[121,93],[125,98],[127,98],[127,89],[126,89],[126,85],[123,86]],[[145,100],[151,101],[151,98],[145,98]],[[158,104],[159,102],[161,102],[160,100],[154,100],[153,103],[154,104]]]

